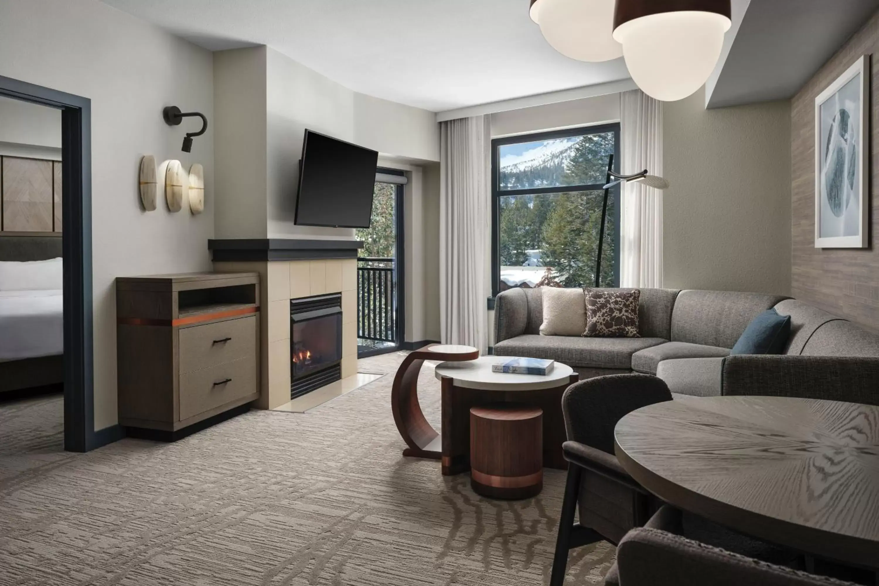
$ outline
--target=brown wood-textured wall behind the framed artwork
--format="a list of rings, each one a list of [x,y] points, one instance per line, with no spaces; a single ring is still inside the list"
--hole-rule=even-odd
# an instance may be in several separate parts
[[[869,160],[873,168],[870,191],[872,216],[868,249],[815,248],[815,98],[863,54],[872,54],[873,91],[870,96],[873,145]],[[835,315],[879,330],[879,165],[876,164],[875,121],[879,117],[876,97],[879,59],[879,13],[839,48],[837,54],[818,69],[792,100],[791,157],[793,163],[792,225],[793,258],[791,293]]]

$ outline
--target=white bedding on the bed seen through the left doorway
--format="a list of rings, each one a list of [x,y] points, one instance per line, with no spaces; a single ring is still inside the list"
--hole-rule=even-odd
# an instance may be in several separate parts
[[[62,291],[0,291],[0,360],[64,352]]]

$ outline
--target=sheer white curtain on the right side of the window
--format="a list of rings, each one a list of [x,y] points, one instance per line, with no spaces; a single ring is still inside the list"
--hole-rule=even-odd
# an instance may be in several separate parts
[[[620,99],[621,172],[662,176],[662,102],[641,90]],[[620,286],[662,286],[662,197],[640,183],[623,187]]]

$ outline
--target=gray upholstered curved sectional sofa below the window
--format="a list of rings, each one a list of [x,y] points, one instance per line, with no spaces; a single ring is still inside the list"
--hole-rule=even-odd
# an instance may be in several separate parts
[[[679,394],[879,400],[879,336],[782,295],[643,288],[639,338],[541,336],[542,307],[540,288],[498,294],[494,353],[552,358],[581,378],[656,374]],[[730,357],[748,323],[770,307],[791,317],[784,353]]]

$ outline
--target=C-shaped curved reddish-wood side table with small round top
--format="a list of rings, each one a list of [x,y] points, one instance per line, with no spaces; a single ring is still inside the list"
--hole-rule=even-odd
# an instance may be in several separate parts
[[[396,429],[406,445],[409,445],[403,450],[403,456],[431,459],[440,459],[442,456],[439,433],[427,422],[418,403],[418,373],[421,372],[421,365],[425,360],[463,362],[476,358],[479,358],[479,351],[473,346],[432,344],[422,350],[410,352],[403,359],[403,364],[396,371],[394,387],[390,393]]]

